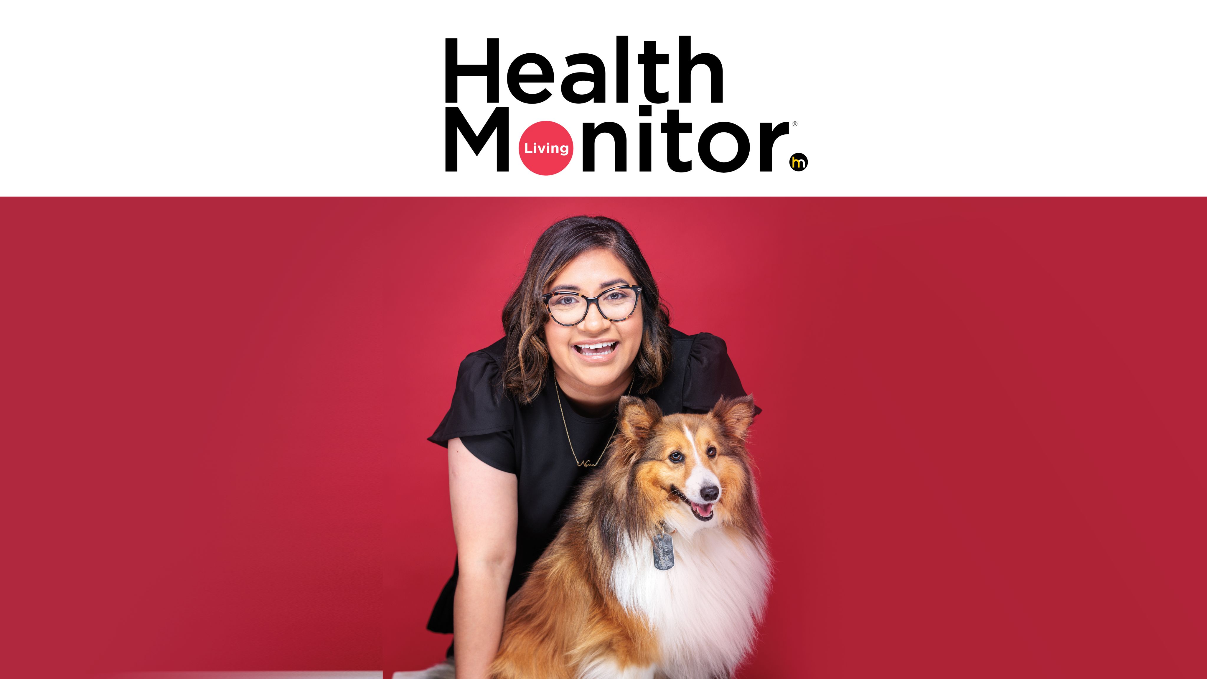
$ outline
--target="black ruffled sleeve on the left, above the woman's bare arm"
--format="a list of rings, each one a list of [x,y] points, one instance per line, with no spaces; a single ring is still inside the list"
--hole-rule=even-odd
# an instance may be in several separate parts
[[[498,364],[486,352],[474,352],[461,361],[449,412],[427,440],[447,447],[449,439],[511,431],[514,417],[512,400],[500,385]]]

